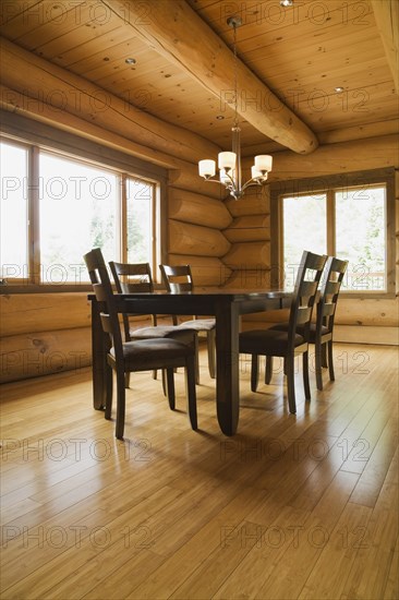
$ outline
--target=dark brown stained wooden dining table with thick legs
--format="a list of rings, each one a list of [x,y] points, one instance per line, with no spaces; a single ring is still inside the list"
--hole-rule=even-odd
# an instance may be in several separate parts
[[[289,308],[288,291],[215,290],[185,293],[116,293],[118,312],[130,314],[210,315],[216,319],[216,405],[221,431],[233,435],[239,422],[239,317],[241,314]],[[107,337],[99,305],[92,300],[93,401],[102,409],[112,374],[107,365]]]

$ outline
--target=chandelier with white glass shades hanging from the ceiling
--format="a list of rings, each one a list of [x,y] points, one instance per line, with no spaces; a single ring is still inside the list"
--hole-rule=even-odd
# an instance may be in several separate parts
[[[267,173],[271,171],[273,157],[267,154],[255,156],[254,165],[251,168],[251,179],[245,183],[241,182],[241,142],[240,125],[238,113],[238,91],[237,91],[237,27],[240,27],[242,21],[240,16],[229,16],[227,20],[229,27],[234,32],[234,121],[231,128],[232,132],[232,152],[220,152],[218,154],[219,178],[216,175],[216,161],[210,159],[200,160],[198,171],[206,181],[217,181],[226,187],[234,200],[243,196],[244,191],[250,185],[263,185],[266,183]]]

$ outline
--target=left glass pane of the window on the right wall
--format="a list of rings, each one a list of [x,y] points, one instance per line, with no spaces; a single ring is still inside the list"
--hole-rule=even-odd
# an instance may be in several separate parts
[[[293,289],[302,252],[316,254],[327,251],[326,195],[285,197],[283,259],[285,288]]]

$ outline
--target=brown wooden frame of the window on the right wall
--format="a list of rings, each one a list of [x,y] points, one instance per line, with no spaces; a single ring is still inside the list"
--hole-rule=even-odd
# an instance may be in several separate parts
[[[292,179],[270,183],[270,229],[276,232],[270,241],[271,284],[283,285],[283,232],[282,197],[326,194],[327,253],[335,255],[335,206],[334,192],[362,185],[386,185],[386,290],[341,290],[346,298],[395,298],[395,167],[327,175],[323,177]]]

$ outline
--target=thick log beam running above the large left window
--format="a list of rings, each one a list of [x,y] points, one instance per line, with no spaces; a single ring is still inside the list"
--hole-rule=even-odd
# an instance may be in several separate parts
[[[169,159],[196,163],[202,156],[220,151],[205,137],[153,117],[2,37],[0,59],[3,106],[14,105],[25,115],[32,112],[36,119],[46,113],[48,122],[52,117],[56,127],[68,116],[77,117],[81,124],[87,122],[88,130],[97,125],[133,142],[137,156],[142,157],[147,154],[149,158],[156,151],[170,155]],[[142,153],[140,146],[143,146]]]

